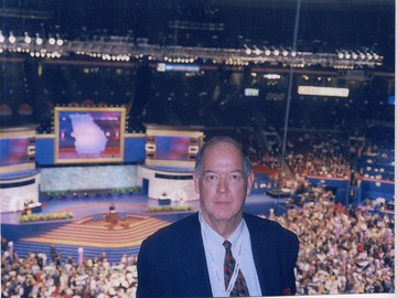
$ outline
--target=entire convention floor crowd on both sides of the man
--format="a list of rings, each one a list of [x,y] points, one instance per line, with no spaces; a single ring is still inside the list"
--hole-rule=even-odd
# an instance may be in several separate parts
[[[318,190],[318,202],[267,215],[300,240],[298,295],[395,292],[394,216],[334,203]],[[266,216],[266,215],[260,215]],[[53,248],[53,247],[52,247]],[[49,254],[49,255],[47,255]],[[135,297],[137,256],[109,264],[106,254],[62,259],[51,249],[19,257],[7,242],[1,253],[2,297]]]

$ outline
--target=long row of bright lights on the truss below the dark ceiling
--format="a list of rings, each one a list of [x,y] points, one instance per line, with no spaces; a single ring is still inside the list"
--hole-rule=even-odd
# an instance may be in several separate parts
[[[30,36],[25,32],[24,36],[14,36],[12,31],[7,39],[0,32],[0,43],[2,52],[44,52],[56,55],[58,57],[75,53],[77,55],[87,55],[89,57],[103,58],[106,61],[129,61],[131,58],[142,60],[146,57],[158,63],[192,63],[197,58],[204,63],[246,66],[249,64],[278,64],[285,67],[310,67],[321,65],[323,67],[333,67],[335,70],[354,70],[363,67],[378,67],[383,65],[383,56],[374,53],[369,49],[363,47],[358,50],[341,49],[335,53],[313,53],[298,52],[287,47],[276,46],[248,46],[244,44],[243,49],[219,49],[219,47],[194,47],[168,45],[159,46],[149,44],[148,42],[139,42],[138,44],[130,38],[126,36],[94,36],[93,40],[74,40],[66,41],[60,38],[60,34],[49,35],[49,39],[41,38],[35,33],[35,42],[29,40]],[[31,41],[31,42],[29,42]],[[62,46],[62,50],[61,50]],[[19,49],[21,49],[19,51]],[[0,53],[0,54],[1,54]],[[254,55],[253,55],[254,54]],[[40,55],[39,55],[40,56]],[[160,58],[159,58],[160,57]]]

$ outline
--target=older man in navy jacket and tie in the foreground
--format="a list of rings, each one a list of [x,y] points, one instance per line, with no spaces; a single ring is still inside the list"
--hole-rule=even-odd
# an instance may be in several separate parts
[[[294,295],[298,237],[243,212],[251,163],[228,137],[196,157],[200,212],[148,237],[138,256],[138,297]]]

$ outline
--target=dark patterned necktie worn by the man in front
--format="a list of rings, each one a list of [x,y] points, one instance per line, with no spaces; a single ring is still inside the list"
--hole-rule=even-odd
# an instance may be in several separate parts
[[[232,243],[225,241],[223,246],[226,248],[225,262],[224,262],[224,276],[225,276],[225,289],[230,283],[233,272],[236,266],[236,260],[232,255]],[[247,297],[249,296],[247,283],[240,269],[238,269],[238,276],[236,283],[232,289],[230,297]]]

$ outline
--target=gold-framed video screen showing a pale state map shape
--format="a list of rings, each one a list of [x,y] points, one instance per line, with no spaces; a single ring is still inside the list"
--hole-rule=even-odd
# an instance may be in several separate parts
[[[55,163],[122,162],[125,108],[56,107]]]

